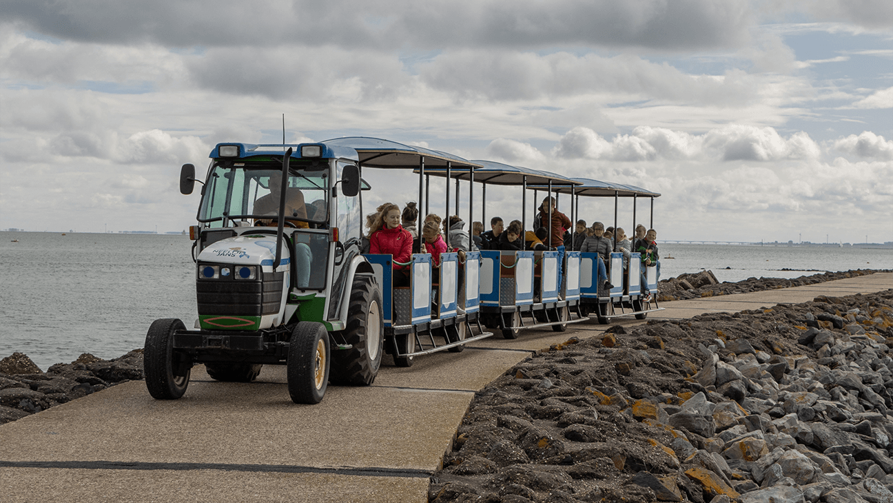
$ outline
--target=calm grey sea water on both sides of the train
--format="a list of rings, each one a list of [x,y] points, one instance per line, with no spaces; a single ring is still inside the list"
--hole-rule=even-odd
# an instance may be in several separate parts
[[[720,281],[893,269],[891,248],[658,244],[663,279],[702,269]],[[0,357],[20,351],[44,370],[81,353],[121,356],[143,347],[154,320],[191,328],[197,317],[187,236],[0,232],[0,264]]]

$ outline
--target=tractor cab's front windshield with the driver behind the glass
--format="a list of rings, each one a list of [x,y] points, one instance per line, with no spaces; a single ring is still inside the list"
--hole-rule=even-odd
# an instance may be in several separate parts
[[[239,160],[243,161],[243,160]],[[329,165],[291,160],[285,189],[285,225],[313,227],[329,220]],[[279,222],[282,163],[277,159],[215,161],[199,210],[199,222]],[[216,225],[213,225],[216,226]]]

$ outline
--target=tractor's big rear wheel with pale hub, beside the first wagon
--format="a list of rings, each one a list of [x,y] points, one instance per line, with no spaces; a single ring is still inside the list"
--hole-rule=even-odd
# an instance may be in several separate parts
[[[347,305],[346,329],[341,332],[353,348],[332,351],[332,384],[368,386],[375,381],[385,347],[381,290],[374,276],[358,276]]]

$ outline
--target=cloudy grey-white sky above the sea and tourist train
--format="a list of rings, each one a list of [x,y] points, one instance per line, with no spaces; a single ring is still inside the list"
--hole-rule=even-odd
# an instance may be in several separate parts
[[[289,143],[649,189],[659,240],[893,241],[889,0],[4,0],[0,230],[182,231],[180,165],[281,142],[283,114]],[[365,207],[418,198],[364,176]],[[488,187],[486,217],[520,219],[521,192]],[[613,225],[613,198],[579,207]]]

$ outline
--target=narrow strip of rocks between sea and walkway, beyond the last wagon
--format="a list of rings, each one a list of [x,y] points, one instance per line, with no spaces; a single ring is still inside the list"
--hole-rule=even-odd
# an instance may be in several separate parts
[[[660,292],[657,295],[657,300],[684,300],[687,298],[714,297],[717,295],[730,295],[769,289],[788,289],[791,287],[814,285],[824,281],[843,280],[855,276],[864,276],[865,274],[872,274],[874,272],[889,271],[858,269],[842,272],[822,272],[820,274],[800,276],[799,278],[790,280],[785,278],[747,278],[747,280],[734,283],[728,281],[721,283],[716,280],[714,272],[701,271],[690,274],[680,274],[675,278],[660,281],[657,285]]]

